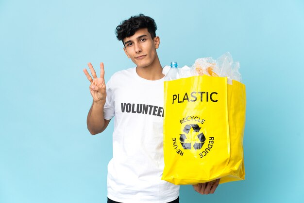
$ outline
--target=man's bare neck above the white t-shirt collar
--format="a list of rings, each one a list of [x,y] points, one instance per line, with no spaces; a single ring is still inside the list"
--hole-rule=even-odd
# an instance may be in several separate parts
[[[163,68],[159,62],[158,56],[156,56],[155,60],[152,64],[146,67],[136,67],[136,73],[147,80],[159,80],[163,78],[165,75],[163,74]]]

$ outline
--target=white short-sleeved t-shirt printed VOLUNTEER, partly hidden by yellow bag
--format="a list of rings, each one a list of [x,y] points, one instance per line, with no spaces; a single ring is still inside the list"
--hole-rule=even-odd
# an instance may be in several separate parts
[[[146,80],[130,68],[114,74],[106,88],[104,118],[115,116],[108,198],[122,203],[175,200],[179,186],[161,180],[164,79]]]

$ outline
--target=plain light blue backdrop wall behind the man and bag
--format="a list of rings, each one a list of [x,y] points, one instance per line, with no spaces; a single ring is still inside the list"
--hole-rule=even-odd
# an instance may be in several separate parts
[[[82,70],[133,67],[114,30],[139,13],[163,66],[229,51],[247,88],[246,180],[181,203],[303,203],[303,0],[0,0],[0,203],[105,202],[113,121],[89,134]]]

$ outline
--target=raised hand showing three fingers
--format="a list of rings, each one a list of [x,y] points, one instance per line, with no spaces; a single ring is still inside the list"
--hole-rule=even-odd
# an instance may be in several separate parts
[[[86,69],[84,69],[84,74],[87,77],[87,79],[91,82],[90,92],[93,97],[93,100],[94,102],[105,104],[106,90],[105,90],[105,82],[104,82],[103,63],[102,62],[100,63],[100,77],[97,77],[96,72],[91,63],[88,63],[87,65],[90,69],[93,78],[87,72]]]

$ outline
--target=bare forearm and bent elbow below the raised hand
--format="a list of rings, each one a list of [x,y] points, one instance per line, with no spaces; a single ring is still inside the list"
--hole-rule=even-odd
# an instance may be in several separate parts
[[[110,120],[106,120],[103,117],[103,107],[104,104],[93,101],[91,109],[87,114],[87,129],[92,135],[101,133],[110,123]]]

